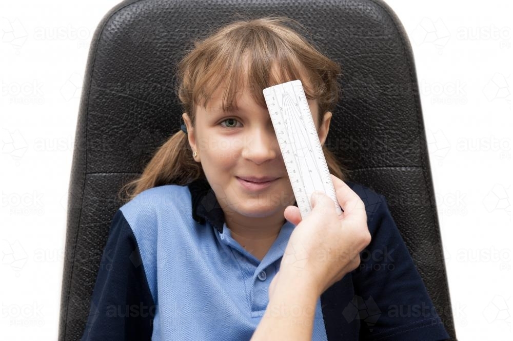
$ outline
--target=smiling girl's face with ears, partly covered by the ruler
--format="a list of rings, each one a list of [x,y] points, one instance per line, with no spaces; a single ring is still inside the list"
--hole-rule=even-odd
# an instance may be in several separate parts
[[[188,114],[183,114],[189,144],[198,153],[194,159],[201,162],[225,217],[233,214],[239,221],[269,217],[269,222],[284,222],[283,211],[295,198],[269,112],[254,102],[247,87],[238,93],[236,108],[224,112],[223,90],[219,87],[212,94],[205,109],[196,106],[194,128]],[[317,102],[309,105],[324,144],[331,113],[324,115],[319,127]],[[262,186],[244,181],[247,177],[273,180]]]

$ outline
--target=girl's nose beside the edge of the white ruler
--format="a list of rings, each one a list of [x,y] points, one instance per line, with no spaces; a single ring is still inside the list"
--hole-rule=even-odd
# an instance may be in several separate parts
[[[279,155],[281,155],[280,145],[272,125],[251,129],[242,150],[242,157],[260,165]]]

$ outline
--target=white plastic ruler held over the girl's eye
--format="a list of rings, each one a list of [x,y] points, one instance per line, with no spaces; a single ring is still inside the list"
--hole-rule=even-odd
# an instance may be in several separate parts
[[[342,213],[301,81],[263,90],[274,132],[301,217],[311,212],[311,195],[322,191]]]

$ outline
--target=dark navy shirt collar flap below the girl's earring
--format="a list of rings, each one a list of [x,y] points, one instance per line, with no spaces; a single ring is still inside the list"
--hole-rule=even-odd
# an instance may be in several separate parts
[[[192,218],[202,225],[209,222],[219,233],[223,233],[224,212],[207,179],[196,179],[187,187],[191,192]],[[298,203],[294,202],[294,206],[298,206]]]

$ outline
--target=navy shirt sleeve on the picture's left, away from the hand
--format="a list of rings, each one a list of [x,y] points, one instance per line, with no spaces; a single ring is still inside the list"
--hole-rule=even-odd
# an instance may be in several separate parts
[[[155,310],[137,241],[117,210],[81,341],[151,340]]]

